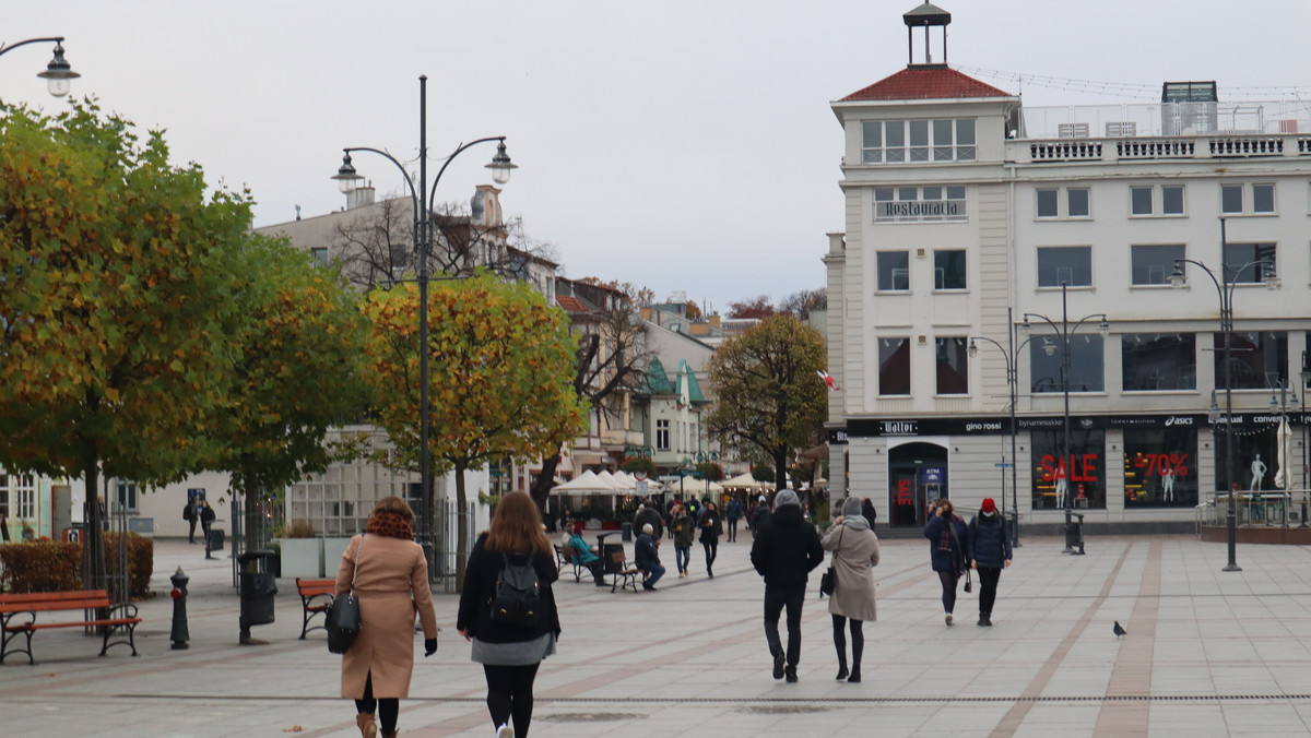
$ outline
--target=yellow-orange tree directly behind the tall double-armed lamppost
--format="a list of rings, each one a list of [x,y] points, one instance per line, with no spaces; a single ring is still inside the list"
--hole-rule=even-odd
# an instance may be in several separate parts
[[[418,290],[375,290],[364,311],[372,329],[366,381],[378,422],[405,459],[420,455]],[[464,472],[492,460],[527,461],[576,437],[586,409],[558,371],[576,343],[564,313],[523,283],[479,271],[434,282],[429,292],[429,393],[433,473],[455,472],[456,583],[469,548]],[[423,490],[429,510],[433,490]]]

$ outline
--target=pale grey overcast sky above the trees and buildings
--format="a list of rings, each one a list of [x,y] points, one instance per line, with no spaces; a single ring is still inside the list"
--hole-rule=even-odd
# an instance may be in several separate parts
[[[906,64],[915,0],[283,3],[12,1],[0,41],[64,35],[75,96],[166,128],[174,159],[249,186],[256,225],[342,207],[345,146],[418,155],[429,76],[430,177],[460,142],[507,136],[502,194],[569,277],[686,291],[713,309],[825,284],[825,233],[843,228],[838,100]],[[1301,85],[1307,0],[944,0],[948,62],[1148,85]],[[919,41],[922,35],[916,35]],[[936,38],[936,33],[935,33]],[[936,49],[936,42],[935,42]],[[35,73],[49,45],[0,58],[0,97],[56,110]],[[939,59],[935,59],[939,60]],[[1116,102],[1025,80],[1025,105]],[[1067,88],[1067,89],[1063,89]],[[1272,90],[1269,97],[1276,97]],[[463,153],[439,202],[489,182],[494,146]],[[355,157],[379,197],[402,181]],[[417,170],[417,164],[413,166]]]

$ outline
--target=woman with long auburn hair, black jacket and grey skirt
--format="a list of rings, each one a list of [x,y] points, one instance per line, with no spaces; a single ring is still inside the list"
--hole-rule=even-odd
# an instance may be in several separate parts
[[[540,612],[531,625],[492,619],[497,579],[506,564],[532,564],[540,585]],[[456,628],[473,641],[473,661],[482,665],[488,682],[488,710],[497,735],[528,734],[532,721],[532,683],[541,659],[556,653],[560,613],[551,590],[558,572],[551,541],[541,531],[538,506],[527,493],[513,492],[492,516],[492,528],[480,535],[469,553],[460,592]],[[514,729],[510,730],[510,721]]]

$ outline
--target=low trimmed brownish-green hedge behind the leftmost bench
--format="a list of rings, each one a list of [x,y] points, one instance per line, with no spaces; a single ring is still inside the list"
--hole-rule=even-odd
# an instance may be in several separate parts
[[[105,565],[110,577],[118,574],[118,534],[105,535]],[[81,590],[81,543],[35,540],[0,545],[0,590],[7,592],[55,592]],[[127,534],[127,595],[149,596],[155,573],[155,541]],[[110,579],[110,591],[117,585]]]

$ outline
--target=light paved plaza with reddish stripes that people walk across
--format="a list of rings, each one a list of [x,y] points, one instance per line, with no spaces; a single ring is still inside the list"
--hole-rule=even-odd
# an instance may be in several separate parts
[[[628,544],[629,554],[632,544]],[[806,600],[798,684],[770,676],[760,578],[743,535],[705,577],[676,572],[658,592],[616,592],[572,577],[556,586],[564,634],[538,679],[532,735],[1307,735],[1311,734],[1311,556],[1306,547],[1189,536],[1024,541],[978,628],[975,594],[943,623],[923,540],[885,540],[878,621],[865,625],[864,682],[835,682],[818,573]],[[38,633],[39,659],[0,667],[0,734],[102,737],[350,737],[340,657],[300,633],[300,600],[279,579],[264,646],[237,646],[227,558],[156,541],[139,658],[67,629]],[[673,570],[669,541],[661,556]],[[191,577],[190,649],[170,650],[168,575]],[[440,649],[416,659],[406,738],[493,734],[482,671],[438,595]],[[1129,632],[1112,633],[1118,620]],[[416,640],[416,649],[421,650]]]

